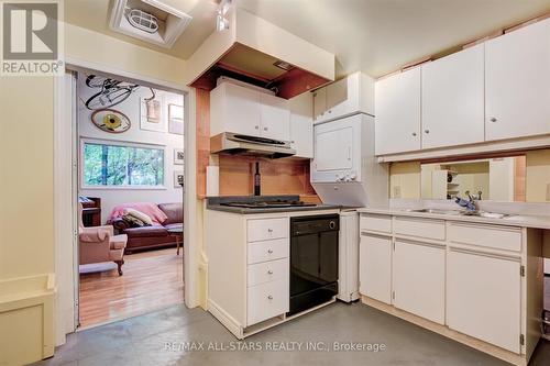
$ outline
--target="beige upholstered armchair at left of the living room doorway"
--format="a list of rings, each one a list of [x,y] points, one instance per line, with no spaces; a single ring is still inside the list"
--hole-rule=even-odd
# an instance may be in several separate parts
[[[125,234],[114,235],[111,225],[85,228],[82,206],[78,204],[79,264],[114,262],[119,276],[122,276],[127,242],[128,236]]]

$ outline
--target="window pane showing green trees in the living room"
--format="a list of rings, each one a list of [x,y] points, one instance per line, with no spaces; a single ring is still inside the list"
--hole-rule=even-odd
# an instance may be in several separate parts
[[[85,142],[85,187],[163,187],[164,148]]]

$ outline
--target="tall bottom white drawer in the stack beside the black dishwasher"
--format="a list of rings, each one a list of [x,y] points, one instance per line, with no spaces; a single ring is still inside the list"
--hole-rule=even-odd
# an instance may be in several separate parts
[[[249,288],[246,323],[252,325],[288,311],[288,279],[279,279]]]

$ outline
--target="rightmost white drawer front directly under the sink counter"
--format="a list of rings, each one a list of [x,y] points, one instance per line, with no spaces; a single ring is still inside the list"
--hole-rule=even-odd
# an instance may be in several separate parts
[[[521,251],[521,229],[451,222],[449,241],[504,251]]]

